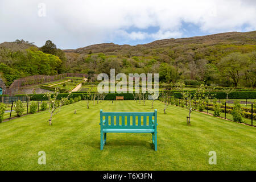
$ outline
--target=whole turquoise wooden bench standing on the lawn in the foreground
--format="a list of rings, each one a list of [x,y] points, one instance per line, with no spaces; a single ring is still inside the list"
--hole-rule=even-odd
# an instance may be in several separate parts
[[[157,150],[156,109],[154,112],[104,112],[100,110],[100,121],[101,150],[106,144],[107,133],[151,133],[155,151]]]

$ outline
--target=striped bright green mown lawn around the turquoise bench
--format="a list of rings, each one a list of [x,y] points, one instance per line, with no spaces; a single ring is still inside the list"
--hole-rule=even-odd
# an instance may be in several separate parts
[[[74,110],[76,109],[76,114]],[[48,125],[42,111],[0,123],[1,170],[255,170],[256,129],[210,115],[193,112],[186,125],[186,109],[158,109],[158,151],[151,134],[110,133],[100,150],[100,109],[104,111],[153,111],[135,101],[80,101],[63,106]],[[38,152],[46,152],[46,165]],[[210,165],[209,151],[217,164]]]

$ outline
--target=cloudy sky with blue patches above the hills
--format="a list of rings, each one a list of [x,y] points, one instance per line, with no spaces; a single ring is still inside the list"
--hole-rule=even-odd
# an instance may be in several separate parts
[[[256,0],[0,0],[0,42],[75,49],[256,30]]]

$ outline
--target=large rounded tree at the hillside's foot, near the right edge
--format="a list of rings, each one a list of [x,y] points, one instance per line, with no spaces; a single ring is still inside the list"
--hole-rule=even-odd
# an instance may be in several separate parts
[[[234,87],[237,87],[248,63],[249,57],[247,55],[242,55],[240,52],[233,52],[222,58],[220,63],[218,63],[218,67],[222,75],[230,79]]]

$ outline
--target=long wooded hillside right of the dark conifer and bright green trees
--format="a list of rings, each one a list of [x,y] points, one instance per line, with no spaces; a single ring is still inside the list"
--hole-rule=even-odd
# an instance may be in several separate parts
[[[256,31],[164,39],[137,46],[96,44],[64,50],[69,71],[159,73],[160,81],[256,86]]]

